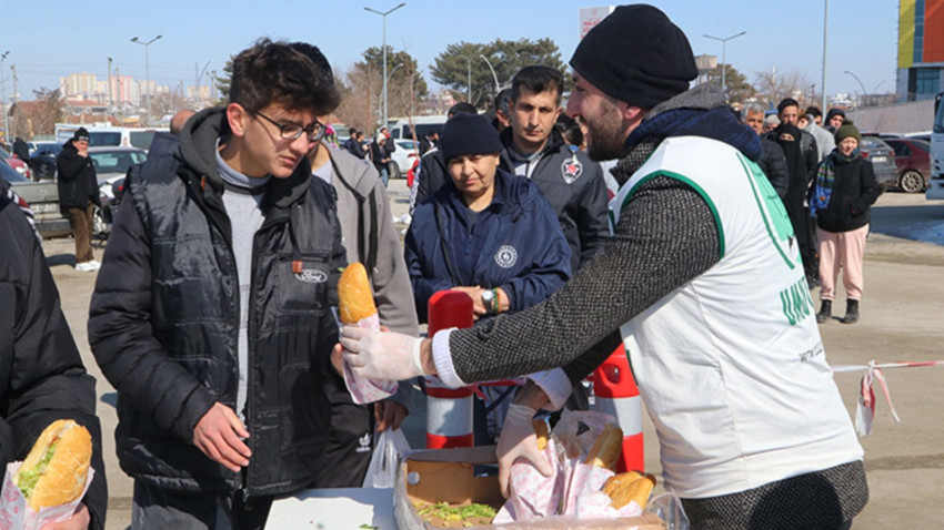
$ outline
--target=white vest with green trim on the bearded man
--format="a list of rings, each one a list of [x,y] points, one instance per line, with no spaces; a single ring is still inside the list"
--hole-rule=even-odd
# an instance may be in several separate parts
[[[666,487],[733,493],[862,459],[826,364],[800,251],[756,164],[714,140],[665,140],[610,203],[655,176],[711,207],[721,259],[621,327]]]

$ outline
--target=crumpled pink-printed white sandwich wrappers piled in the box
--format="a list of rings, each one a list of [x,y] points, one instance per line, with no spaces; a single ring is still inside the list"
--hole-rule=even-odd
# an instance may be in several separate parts
[[[600,491],[613,471],[583,462],[596,437],[613,421],[602,412],[565,410],[544,448],[553,472],[544,477],[528,461],[513,463],[511,495],[492,524],[555,517],[591,520],[641,516],[642,507],[634,501],[613,509],[610,497]]]

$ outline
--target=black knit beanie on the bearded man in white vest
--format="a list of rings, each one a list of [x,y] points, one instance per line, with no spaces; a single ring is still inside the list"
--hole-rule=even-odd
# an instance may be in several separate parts
[[[699,75],[689,39],[652,6],[621,6],[580,42],[571,67],[607,95],[651,109]]]

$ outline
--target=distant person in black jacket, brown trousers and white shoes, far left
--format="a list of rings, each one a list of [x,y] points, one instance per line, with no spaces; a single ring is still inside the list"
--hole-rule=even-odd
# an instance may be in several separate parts
[[[89,131],[79,128],[56,160],[59,210],[69,216],[76,237],[76,271],[92,273],[101,267],[92,253],[92,216],[101,207],[96,166],[89,157]]]

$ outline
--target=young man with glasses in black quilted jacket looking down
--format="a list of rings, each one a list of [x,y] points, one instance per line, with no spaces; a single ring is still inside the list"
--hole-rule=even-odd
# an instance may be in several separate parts
[[[339,101],[311,60],[261,40],[233,61],[225,109],[128,176],[89,340],[118,389],[132,528],[262,528],[273,496],[317,475],[345,259],[307,154]]]

